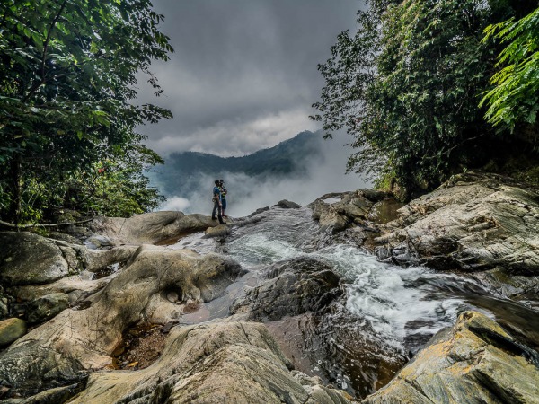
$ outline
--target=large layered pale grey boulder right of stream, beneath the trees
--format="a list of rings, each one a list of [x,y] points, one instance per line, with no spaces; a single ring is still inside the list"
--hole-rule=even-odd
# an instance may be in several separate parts
[[[510,179],[463,174],[399,210],[380,259],[431,268],[539,275],[539,195]]]

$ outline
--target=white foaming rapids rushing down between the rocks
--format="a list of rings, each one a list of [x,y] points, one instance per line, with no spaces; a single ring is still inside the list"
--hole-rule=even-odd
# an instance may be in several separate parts
[[[324,246],[311,215],[308,208],[273,207],[253,216],[252,224],[234,228],[222,250],[251,271],[302,256],[330,264],[344,279],[347,310],[369,321],[376,338],[402,351],[413,346],[413,341],[425,342],[438,329],[454,324],[464,310],[495,317],[485,304],[473,303],[474,295],[486,295],[496,304],[501,301],[473,280],[429,268],[389,265],[348,242]],[[214,241],[200,239],[200,233],[181,239],[174,247],[201,253],[215,250]]]

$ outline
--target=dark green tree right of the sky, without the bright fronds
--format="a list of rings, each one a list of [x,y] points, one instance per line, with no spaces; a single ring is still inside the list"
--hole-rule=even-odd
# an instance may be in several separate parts
[[[378,0],[358,12],[319,66],[325,86],[314,103],[323,129],[346,128],[357,151],[348,170],[391,178],[403,189],[436,187],[488,158],[495,131],[483,118],[497,44],[492,23],[536,2]]]

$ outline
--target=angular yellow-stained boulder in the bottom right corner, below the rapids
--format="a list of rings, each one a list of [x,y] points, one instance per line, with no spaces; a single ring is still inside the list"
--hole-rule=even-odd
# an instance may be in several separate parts
[[[496,321],[462,313],[365,404],[537,403],[539,355]]]

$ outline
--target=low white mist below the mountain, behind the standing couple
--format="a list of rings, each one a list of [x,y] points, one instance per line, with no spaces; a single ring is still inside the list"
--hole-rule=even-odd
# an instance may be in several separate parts
[[[189,195],[169,196],[159,210],[211,214],[212,189],[216,179],[225,180],[225,188],[228,190],[228,207],[225,214],[233,217],[250,215],[256,209],[273,206],[282,199],[305,206],[329,192],[369,188],[370,183],[358,174],[344,173],[351,149],[349,146],[343,146],[343,143],[342,135],[321,142],[322,157],[308,162],[306,174],[302,176],[293,175],[284,179],[271,176],[250,177],[243,173],[227,172],[226,167],[213,176],[201,173],[198,179],[199,190]]]

